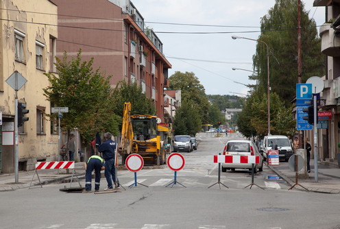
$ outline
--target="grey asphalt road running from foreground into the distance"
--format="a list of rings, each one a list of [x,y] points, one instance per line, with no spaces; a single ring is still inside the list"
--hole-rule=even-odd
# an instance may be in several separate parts
[[[63,193],[64,184],[48,184],[43,188],[20,189],[0,193],[1,228],[337,228],[339,223],[339,195],[287,191],[269,188],[265,182],[266,169],[258,173],[256,184],[250,184],[247,171],[221,173],[226,189],[215,185],[217,165],[212,156],[223,150],[226,137],[200,135],[197,151],[183,153],[186,166],[178,171],[178,182],[165,188],[173,180],[173,171],[143,169],[137,173],[138,185],[119,193]],[[229,137],[228,137],[229,138]],[[119,171],[123,186],[134,181],[134,173]],[[106,181],[101,180],[101,188]]]

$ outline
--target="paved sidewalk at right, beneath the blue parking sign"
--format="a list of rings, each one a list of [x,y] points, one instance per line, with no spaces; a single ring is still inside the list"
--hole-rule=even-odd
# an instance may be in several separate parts
[[[311,159],[311,173],[308,178],[300,175],[298,184],[304,186],[308,191],[319,193],[340,193],[340,169],[337,164],[324,164],[319,162],[317,165],[318,182],[315,182],[314,160]],[[286,180],[291,186],[295,184],[295,172],[289,169],[287,162],[280,162],[280,165],[268,165],[270,169],[275,171],[278,176]],[[295,185],[293,189],[305,190],[299,185]]]

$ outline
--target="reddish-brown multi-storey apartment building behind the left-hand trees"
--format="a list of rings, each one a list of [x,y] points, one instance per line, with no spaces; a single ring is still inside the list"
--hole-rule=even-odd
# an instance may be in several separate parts
[[[94,58],[93,69],[107,76],[110,84],[137,82],[154,100],[164,121],[164,88],[171,64],[162,54],[162,42],[144,25],[144,18],[128,0],[52,0],[58,5],[57,56],[64,51],[74,57]]]

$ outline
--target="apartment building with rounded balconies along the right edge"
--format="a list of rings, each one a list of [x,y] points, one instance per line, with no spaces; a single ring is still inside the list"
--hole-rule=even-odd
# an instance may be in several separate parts
[[[320,93],[319,111],[332,113],[330,120],[318,123],[318,158],[323,161],[333,161],[339,157],[340,143],[340,0],[315,0],[315,7],[325,7],[325,23],[319,27],[321,37],[321,53],[326,56],[326,75],[324,90]],[[306,136],[314,144],[313,131],[307,131]]]

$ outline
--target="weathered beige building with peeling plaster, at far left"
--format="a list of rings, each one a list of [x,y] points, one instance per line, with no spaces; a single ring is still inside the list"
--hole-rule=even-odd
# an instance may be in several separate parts
[[[34,169],[37,160],[56,160],[58,134],[45,119],[50,104],[42,88],[49,85],[44,73],[53,69],[58,37],[58,8],[49,0],[2,0],[0,22],[0,172],[14,172],[14,144],[19,145],[19,170]],[[29,117],[14,134],[15,93],[6,82],[19,72],[27,82],[17,91]],[[52,130],[51,130],[52,129]]]

